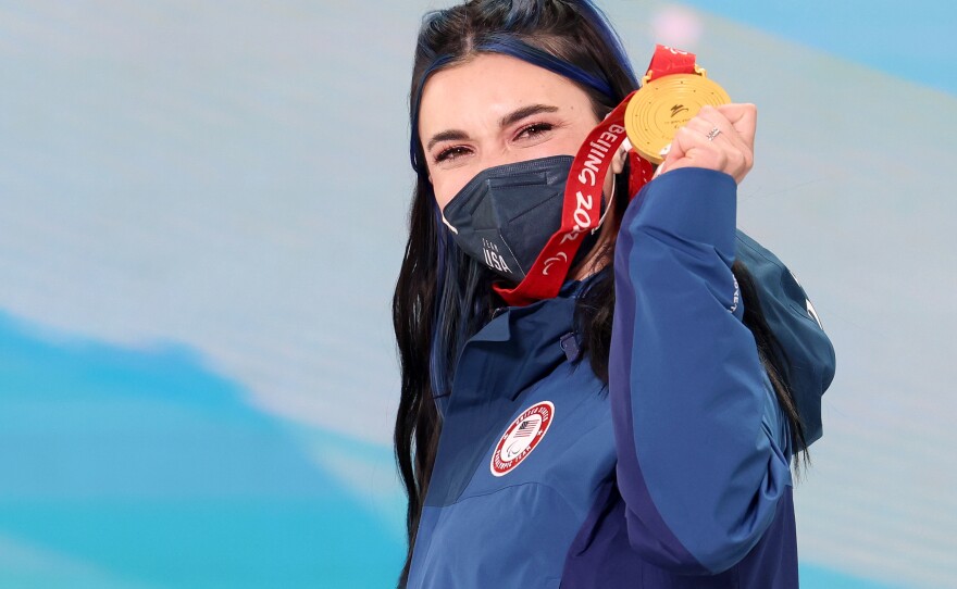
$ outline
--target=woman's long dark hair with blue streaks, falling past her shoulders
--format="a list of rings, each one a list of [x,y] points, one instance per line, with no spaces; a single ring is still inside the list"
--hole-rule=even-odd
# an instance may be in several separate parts
[[[457,248],[442,223],[417,128],[419,101],[428,76],[481,52],[512,54],[569,77],[589,96],[598,120],[637,87],[621,41],[605,15],[588,0],[472,0],[423,18],[410,90],[410,155],[418,178],[409,240],[393,298],[401,364],[395,449],[409,498],[409,547],[399,587],[405,587],[408,578],[442,430],[436,399],[450,393],[456,360],[464,342],[504,304],[490,288],[492,273]],[[617,225],[627,206],[626,174],[627,170],[616,183],[613,214],[606,223]],[[600,258],[610,261],[612,248],[613,243]],[[786,366],[783,350],[763,319],[747,270],[735,262],[732,271],[745,301],[744,323],[755,335],[778,400],[791,423],[793,446],[803,449],[803,428],[786,374],[781,369]],[[613,276],[608,267],[593,277],[577,300],[575,312],[583,355],[606,383],[614,309]]]

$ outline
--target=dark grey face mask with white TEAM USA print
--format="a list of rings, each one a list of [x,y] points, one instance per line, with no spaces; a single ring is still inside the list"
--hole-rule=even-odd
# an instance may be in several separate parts
[[[443,210],[456,243],[501,276],[520,283],[561,227],[572,162],[571,155],[552,155],[480,172]],[[588,231],[575,260],[596,240],[597,234]]]

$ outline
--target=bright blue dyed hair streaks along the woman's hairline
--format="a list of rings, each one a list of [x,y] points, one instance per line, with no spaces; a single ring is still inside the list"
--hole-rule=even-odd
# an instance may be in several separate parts
[[[532,65],[544,67],[549,72],[567,77],[573,82],[577,82],[579,84],[597,90],[601,95],[611,99],[612,102],[614,101],[614,92],[611,89],[611,85],[604,77],[592,75],[581,67],[571,64],[564,60],[558,59],[555,55],[538,49],[537,47],[532,47],[525,41],[522,41],[521,39],[511,35],[489,35],[488,37],[486,37],[486,40],[483,43],[475,46],[475,51],[511,55],[513,58],[529,62]],[[428,68],[425,70],[425,73],[422,75],[422,82],[419,83],[419,88],[415,89],[414,102],[412,102],[412,137],[411,143],[409,146],[409,154],[412,160],[412,168],[420,175],[426,174],[425,164],[419,161],[417,149],[420,142],[419,105],[422,101],[422,90],[423,88],[425,88],[425,82],[428,79],[428,76],[431,76],[437,70],[447,65],[453,60],[455,58],[452,55],[440,55],[436,58],[435,61],[432,62],[432,65],[430,65]]]

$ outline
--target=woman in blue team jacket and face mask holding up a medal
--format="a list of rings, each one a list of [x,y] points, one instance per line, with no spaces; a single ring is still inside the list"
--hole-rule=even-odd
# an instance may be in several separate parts
[[[634,200],[616,153],[560,291],[515,294],[564,240],[572,156],[636,87],[587,1],[423,22],[394,299],[400,587],[797,587],[791,463],[833,350],[735,231],[754,106],[703,110]]]

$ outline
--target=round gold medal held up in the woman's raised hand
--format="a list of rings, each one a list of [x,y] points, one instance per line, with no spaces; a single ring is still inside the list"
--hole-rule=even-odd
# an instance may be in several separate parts
[[[660,164],[674,134],[692,120],[701,106],[718,106],[731,102],[724,88],[697,74],[671,74],[644,80],[624,111],[624,127],[629,141],[638,154]]]

